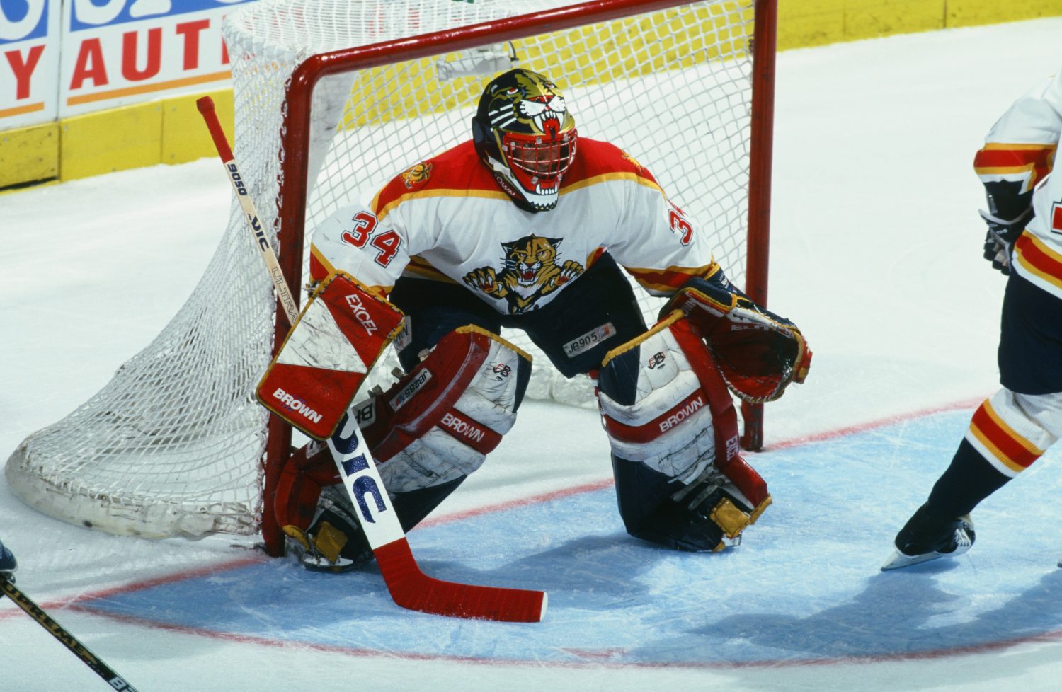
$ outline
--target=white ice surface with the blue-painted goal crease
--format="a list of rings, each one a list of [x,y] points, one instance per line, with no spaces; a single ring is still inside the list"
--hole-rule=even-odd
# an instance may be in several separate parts
[[[141,690],[1057,689],[1057,451],[975,512],[970,553],[878,568],[996,387],[1004,278],[980,259],[971,162],[1058,68],[1060,33],[1042,19],[780,55],[770,304],[815,360],[767,409],[749,461],[774,505],[737,549],[628,538],[597,415],[528,402],[410,541],[433,576],[549,591],[541,624],[412,613],[372,568],[311,574],[226,537],[70,526],[0,482],[19,586]],[[228,193],[204,159],[0,195],[4,455],[172,316]],[[106,687],[0,602],[0,689]]]

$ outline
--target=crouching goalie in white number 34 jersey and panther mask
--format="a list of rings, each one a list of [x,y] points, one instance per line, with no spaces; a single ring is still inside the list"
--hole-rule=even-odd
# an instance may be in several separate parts
[[[511,70],[485,86],[469,140],[314,229],[313,297],[259,398],[327,437],[393,339],[399,379],[355,409],[408,531],[514,425],[531,359],[499,333],[519,329],[563,376],[598,379],[628,532],[722,550],[771,502],[739,454],[732,393],[776,399],[811,353],[795,325],[731,284],[709,229],[630,155],[580,137],[549,79]],[[669,297],[657,324],[623,271]],[[280,473],[276,518],[311,569],[372,554],[338,481],[316,442]]]

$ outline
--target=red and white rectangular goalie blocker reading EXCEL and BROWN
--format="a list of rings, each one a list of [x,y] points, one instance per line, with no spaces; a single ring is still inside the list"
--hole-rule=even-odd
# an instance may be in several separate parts
[[[336,432],[402,313],[342,272],[310,296],[258,384],[258,401],[310,437]]]

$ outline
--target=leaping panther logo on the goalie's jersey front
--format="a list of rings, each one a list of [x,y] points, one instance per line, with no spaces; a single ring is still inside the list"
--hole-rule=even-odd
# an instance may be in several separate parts
[[[510,314],[534,310],[541,297],[564,287],[583,273],[573,260],[559,262],[560,238],[530,235],[511,243],[501,243],[503,269],[481,266],[464,275],[464,282],[509,304]]]

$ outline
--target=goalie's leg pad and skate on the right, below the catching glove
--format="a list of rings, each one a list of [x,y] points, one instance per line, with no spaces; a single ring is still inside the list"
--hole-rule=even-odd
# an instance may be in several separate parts
[[[681,312],[611,351],[599,392],[631,535],[722,550],[771,503],[767,484],[738,453],[726,385]]]

